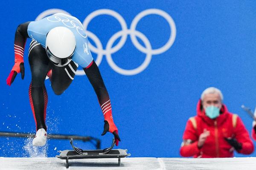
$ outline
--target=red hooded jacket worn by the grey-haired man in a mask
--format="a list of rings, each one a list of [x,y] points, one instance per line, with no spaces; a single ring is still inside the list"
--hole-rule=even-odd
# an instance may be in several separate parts
[[[210,131],[210,136],[207,137],[203,147],[199,149],[197,146],[198,139],[204,129]],[[233,157],[233,151],[230,152],[232,146],[224,139],[225,137],[236,138],[242,144],[239,153],[250,154],[254,150],[249,133],[237,115],[233,116],[227,111],[227,107],[222,105],[220,116],[216,119],[210,119],[205,115],[201,100],[199,100],[197,116],[188,120],[183,134],[183,140],[190,139],[193,143],[183,145],[180,148],[180,155],[195,158]]]

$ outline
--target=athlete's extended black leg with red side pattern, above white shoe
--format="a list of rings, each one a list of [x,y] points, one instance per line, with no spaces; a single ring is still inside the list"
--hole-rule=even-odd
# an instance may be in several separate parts
[[[49,71],[49,59],[45,49],[35,40],[31,42],[29,48],[29,65],[32,74],[29,101],[34,114],[36,130],[41,128],[47,130],[45,118],[48,96],[44,80]]]

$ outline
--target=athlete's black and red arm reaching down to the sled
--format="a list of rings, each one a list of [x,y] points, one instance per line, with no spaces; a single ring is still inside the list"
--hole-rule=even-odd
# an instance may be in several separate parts
[[[104,125],[104,131],[102,135],[105,135],[108,131],[113,133],[113,135],[115,136],[116,146],[117,146],[118,142],[121,140],[118,135],[118,129],[113,122],[111,102],[108,96],[108,91],[105,87],[102,76],[99,72],[99,68],[96,65],[96,63],[92,61],[89,66],[83,69],[91,85],[94,88],[94,91],[99,100],[99,105],[101,106],[101,109],[104,115],[105,125]]]

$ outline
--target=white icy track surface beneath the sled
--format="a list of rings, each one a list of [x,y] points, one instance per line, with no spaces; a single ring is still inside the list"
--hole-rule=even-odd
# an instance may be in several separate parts
[[[69,170],[255,170],[256,158],[122,158],[73,159]],[[0,170],[66,170],[65,160],[58,158],[0,157]]]

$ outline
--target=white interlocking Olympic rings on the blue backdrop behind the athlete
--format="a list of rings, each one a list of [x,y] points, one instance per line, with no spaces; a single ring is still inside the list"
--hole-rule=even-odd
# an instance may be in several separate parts
[[[53,8],[53,9],[46,10],[46,11],[42,12],[41,14],[39,14],[38,17],[36,18],[36,20],[40,20],[44,17],[47,17],[48,15],[55,14],[58,12],[69,14],[67,11],[64,11],[62,9]],[[169,27],[170,27],[171,34],[170,34],[169,40],[166,42],[165,45],[163,45],[162,47],[157,48],[157,49],[152,49],[151,43],[148,40],[148,38],[142,32],[136,30],[136,27],[137,27],[137,24],[139,23],[139,21],[143,17],[150,15],[150,14],[157,14],[157,15],[163,17],[169,23]],[[102,42],[99,40],[99,38],[95,34],[93,34],[93,32],[87,30],[87,27],[88,27],[90,21],[93,20],[94,17],[97,17],[99,15],[110,15],[110,16],[114,17],[116,20],[119,21],[121,28],[122,28],[121,31],[118,31],[112,35],[112,37],[108,40],[105,49],[103,49]],[[152,56],[157,55],[157,54],[162,54],[165,51],[167,51],[174,43],[175,37],[176,37],[176,26],[175,26],[175,22],[172,19],[172,17],[165,11],[156,9],[156,8],[146,9],[146,10],[140,12],[139,14],[137,14],[134,17],[134,20],[131,22],[130,29],[128,29],[124,18],[116,11],[113,11],[110,9],[99,9],[99,10],[93,11],[84,19],[82,24],[84,26],[84,31],[87,34],[87,37],[90,37],[90,39],[93,40],[96,44],[96,47],[95,47],[94,45],[92,45],[89,42],[90,50],[93,53],[97,54],[97,59],[95,60],[96,64],[99,66],[100,63],[102,62],[103,56],[105,55],[110,67],[114,71],[116,71],[117,73],[122,74],[122,75],[136,75],[136,74],[139,74],[140,72],[142,72],[143,70],[145,70],[145,68],[147,68],[150,63]],[[139,67],[130,69],[130,70],[120,68],[118,65],[116,65],[116,63],[113,61],[112,56],[111,56],[113,53],[115,53],[116,51],[119,51],[123,47],[123,45],[125,44],[125,42],[127,40],[128,35],[130,35],[131,42],[133,43],[133,45],[139,51],[146,54],[146,57],[145,57],[145,60],[143,61],[143,63]],[[121,37],[120,41],[113,47],[113,43],[119,37]],[[145,44],[145,47],[143,47],[143,45],[141,45],[140,42],[138,42],[137,37],[139,37],[143,41],[143,43]],[[84,71],[77,70],[76,75],[84,75]]]

